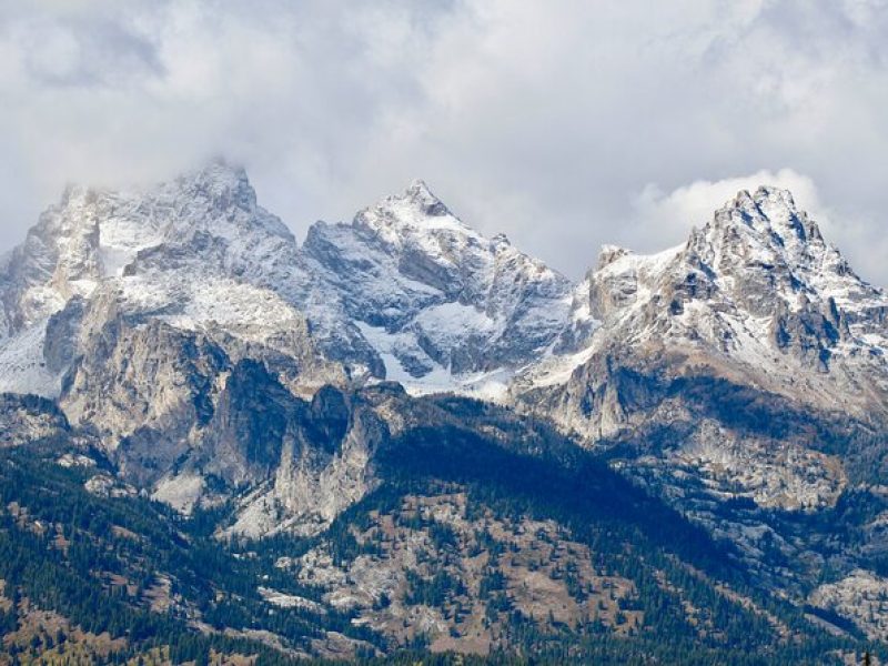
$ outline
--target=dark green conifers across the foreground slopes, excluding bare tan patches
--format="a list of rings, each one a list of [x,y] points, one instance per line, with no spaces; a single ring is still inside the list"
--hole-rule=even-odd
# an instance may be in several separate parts
[[[804,618],[804,609],[757,591],[755,581],[736,564],[729,544],[714,542],[545,423],[461,398],[425,398],[415,401],[412,408],[416,422],[427,427],[407,430],[385,443],[374,460],[383,483],[314,539],[281,535],[223,544],[213,534],[230,516],[230,506],[184,519],[143,498],[90,495],[83,490],[83,473],[61,468],[51,455],[41,455],[51,452],[48,443],[39,450],[0,452],[0,507],[18,503],[28,509],[30,525],[39,521],[47,526],[39,532],[9,512],[0,515],[0,578],[7,581],[8,594],[20,592],[77,626],[125,636],[130,648],[120,655],[121,660],[152,646],[169,646],[173,663],[206,663],[211,649],[256,654],[265,665],[293,663],[256,643],[199,634],[181,609],[169,615],[149,612],[142,593],[159,583],[159,575],[169,577],[172,593],[188,599],[201,620],[215,629],[264,629],[295,649],[305,649],[325,632],[339,632],[373,646],[366,654],[372,649],[392,653],[385,660],[367,656],[360,660],[363,664],[828,664],[835,662],[835,650],[862,652],[865,646],[880,658],[886,656],[884,648],[855,636],[821,634]],[[320,420],[314,434],[329,440],[327,450],[333,451],[343,432],[344,398],[330,392],[312,410]],[[325,545],[334,562],[345,567],[361,555],[380,556],[379,543],[362,543],[355,536],[372,526],[373,512],[427,534],[431,547],[416,554],[421,561],[423,556],[454,559],[461,536],[418,512],[402,511],[402,501],[408,494],[455,490],[467,493],[470,519],[492,515],[554,521],[571,539],[586,544],[593,568],[634,585],[635,594],[619,601],[616,619],[625,627],[630,614],[642,613],[640,628],[618,636],[602,622],[572,628],[524,616],[500,571],[500,559],[509,556],[507,546],[483,531],[475,534],[472,554],[488,555],[477,583],[478,596],[487,622],[504,624],[514,647],[508,655],[486,660],[460,657],[460,662],[450,655],[430,656],[422,652],[427,636],[411,646],[421,652],[397,653],[385,637],[352,624],[347,613],[330,609],[321,615],[300,608],[270,613],[259,595],[258,587],[263,585],[319,601],[319,589],[300,585],[292,572],[274,566],[279,557],[297,557],[315,545]],[[868,502],[868,496],[848,493],[834,517],[861,524],[881,511]],[[743,506],[730,511],[743,511]],[[65,549],[54,545],[57,526],[68,542]],[[431,576],[408,574],[403,602],[438,607],[446,617],[457,617],[463,607],[460,597],[468,594],[466,582],[436,568],[435,562],[430,564]],[[131,582],[137,595],[110,585],[111,574]],[[583,602],[591,594],[569,564],[559,567],[557,575],[574,599]],[[763,615],[720,594],[716,582],[754,601],[801,639],[783,640]],[[380,599],[376,607],[392,602]],[[685,604],[699,609],[696,623],[688,622]],[[16,622],[14,612],[0,614],[3,632],[14,628]],[[705,634],[699,630],[702,624],[709,627]]]

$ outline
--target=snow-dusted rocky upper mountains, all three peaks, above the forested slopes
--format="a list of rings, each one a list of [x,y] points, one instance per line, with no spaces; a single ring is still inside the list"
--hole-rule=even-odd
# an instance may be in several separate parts
[[[605,248],[571,285],[421,181],[349,224],[316,223],[299,248],[243,171],[216,162],[147,192],[69,188],[8,256],[0,289],[2,387],[58,398],[148,484],[215,432],[244,362],[309,400],[379,379],[494,396],[587,446],[649,448],[668,430],[710,453],[715,432],[728,448],[788,445],[725,417],[753,400],[763,418],[770,403],[830,432],[837,415],[878,427],[888,413],[888,299],[767,188],[739,193],[679,248]],[[824,451],[821,435],[791,445],[844,455],[829,487],[849,465],[859,478],[860,445]],[[226,484],[273,473],[239,465]],[[807,505],[806,492],[786,502]]]

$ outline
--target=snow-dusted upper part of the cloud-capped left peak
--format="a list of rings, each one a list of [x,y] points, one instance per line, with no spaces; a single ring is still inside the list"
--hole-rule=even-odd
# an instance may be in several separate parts
[[[282,372],[285,356],[294,386],[342,377],[316,357],[293,304],[310,282],[295,239],[256,204],[243,170],[222,162],[143,192],[69,188],[2,273],[2,389],[57,396],[115,317],[202,331]]]

